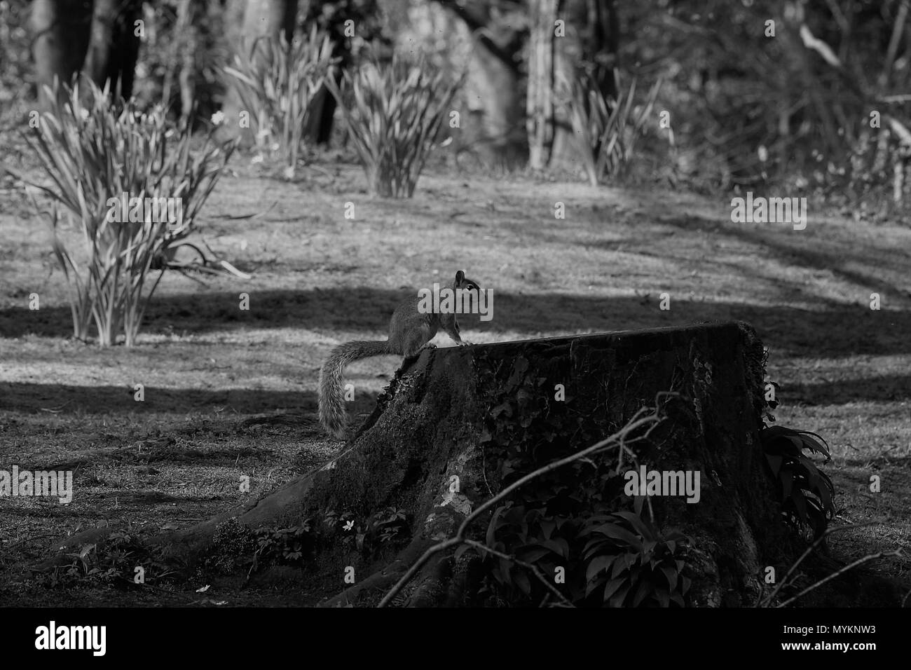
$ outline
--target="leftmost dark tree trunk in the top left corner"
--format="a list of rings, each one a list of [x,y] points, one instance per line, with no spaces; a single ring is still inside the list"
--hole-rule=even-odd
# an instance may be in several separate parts
[[[73,76],[82,69],[91,20],[91,0],[35,0],[32,3],[29,24],[41,107],[50,103],[45,86],[52,86],[55,78],[61,84],[70,85]]]

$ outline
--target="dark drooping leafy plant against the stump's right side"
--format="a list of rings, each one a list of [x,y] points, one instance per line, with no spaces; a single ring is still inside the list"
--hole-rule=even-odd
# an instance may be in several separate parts
[[[827,463],[832,459],[828,445],[815,433],[783,426],[763,428],[760,439],[778,484],[784,520],[797,531],[811,529],[819,538],[834,518],[835,490],[832,479],[804,456],[804,450],[822,454]]]

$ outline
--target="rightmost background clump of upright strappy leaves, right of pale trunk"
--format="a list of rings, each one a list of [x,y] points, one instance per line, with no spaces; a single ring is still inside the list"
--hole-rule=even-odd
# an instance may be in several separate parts
[[[605,96],[587,78],[573,83],[568,99],[569,119],[592,186],[597,186],[605,177],[618,175],[630,161],[636,139],[651,114],[660,88],[659,80],[637,109],[633,108],[635,79],[616,100]]]

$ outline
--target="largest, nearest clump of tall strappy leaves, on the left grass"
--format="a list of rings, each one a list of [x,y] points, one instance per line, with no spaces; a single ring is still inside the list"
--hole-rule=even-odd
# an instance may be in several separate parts
[[[48,97],[55,100],[56,90]],[[77,339],[88,339],[94,321],[101,345],[113,345],[121,331],[126,345],[135,343],[163,275],[145,291],[149,270],[192,232],[234,149],[232,144],[215,146],[210,138],[192,152],[189,125],[174,127],[161,106],[145,114],[133,101],[116,107],[108,101],[107,88],[90,81],[87,89],[75,86],[53,112],[42,115],[29,144],[52,185],[29,183],[54,201],[46,213],[54,253],[67,277]],[[139,212],[138,221],[112,220],[117,217],[110,216],[108,201],[124,193],[153,208]],[[179,199],[176,221],[155,213],[162,203],[176,201],[168,199]],[[67,212],[67,222],[77,222],[85,258],[64,242],[58,205]],[[131,207],[130,219],[132,213]]]

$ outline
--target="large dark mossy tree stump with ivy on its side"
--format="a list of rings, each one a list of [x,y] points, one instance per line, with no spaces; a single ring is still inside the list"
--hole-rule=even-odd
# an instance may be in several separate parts
[[[668,416],[646,447],[634,450],[648,470],[698,471],[699,500],[649,497],[654,521],[691,538],[688,604],[752,606],[763,567],[783,539],[759,442],[763,361],[762,343],[742,323],[426,350],[404,362],[332,461],[241,510],[161,540],[197,552],[231,518],[256,527],[322,519],[326,510],[362,520],[389,507],[406,510],[411,539],[404,550],[372,564],[346,556],[357,581],[327,602],[376,603],[428,546],[452,536],[509,481],[616,432],[670,391],[677,396]],[[553,500],[564,496],[571,505],[574,487],[589,487],[586,478],[598,472],[578,463],[545,483],[557,491]],[[469,536],[483,541],[489,519],[478,520]],[[479,563],[471,552],[436,555],[402,602],[477,603]],[[322,568],[343,569],[337,561]]]

